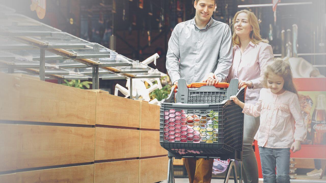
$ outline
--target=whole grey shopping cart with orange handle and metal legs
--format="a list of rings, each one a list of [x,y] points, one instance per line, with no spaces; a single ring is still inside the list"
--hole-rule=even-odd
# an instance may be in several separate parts
[[[238,90],[238,82],[232,79],[230,84],[205,86],[206,83],[186,85],[184,79],[179,79],[178,87],[174,85],[169,97],[162,100],[160,144],[168,150],[168,183],[174,183],[173,157],[237,160],[242,182],[244,114],[230,100],[235,95],[244,102],[246,86]],[[235,162],[230,161],[225,183],[232,169],[237,182]]]

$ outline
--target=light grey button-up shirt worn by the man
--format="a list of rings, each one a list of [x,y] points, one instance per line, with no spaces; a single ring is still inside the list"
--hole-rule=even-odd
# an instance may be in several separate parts
[[[172,31],[166,68],[172,83],[180,78],[187,84],[201,82],[210,72],[221,82],[229,74],[232,57],[229,25],[211,18],[205,28],[199,29],[192,19],[178,23]]]

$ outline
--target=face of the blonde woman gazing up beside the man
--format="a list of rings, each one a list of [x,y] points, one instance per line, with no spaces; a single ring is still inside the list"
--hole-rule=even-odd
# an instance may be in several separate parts
[[[240,13],[234,23],[234,31],[239,37],[249,36],[252,26],[249,23],[248,15],[244,12]]]

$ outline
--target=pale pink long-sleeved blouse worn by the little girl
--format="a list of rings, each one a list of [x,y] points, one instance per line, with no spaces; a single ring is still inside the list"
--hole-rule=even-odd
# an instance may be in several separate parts
[[[285,91],[276,95],[270,89],[261,89],[256,105],[245,104],[242,112],[255,117],[260,115],[255,139],[261,147],[290,148],[293,140],[306,138],[307,129],[295,93]]]

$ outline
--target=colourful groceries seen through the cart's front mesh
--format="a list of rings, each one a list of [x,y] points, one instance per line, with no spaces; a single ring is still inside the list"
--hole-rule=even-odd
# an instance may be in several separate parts
[[[218,142],[217,134],[218,112],[176,109],[164,111],[164,140],[168,142],[214,143]]]

